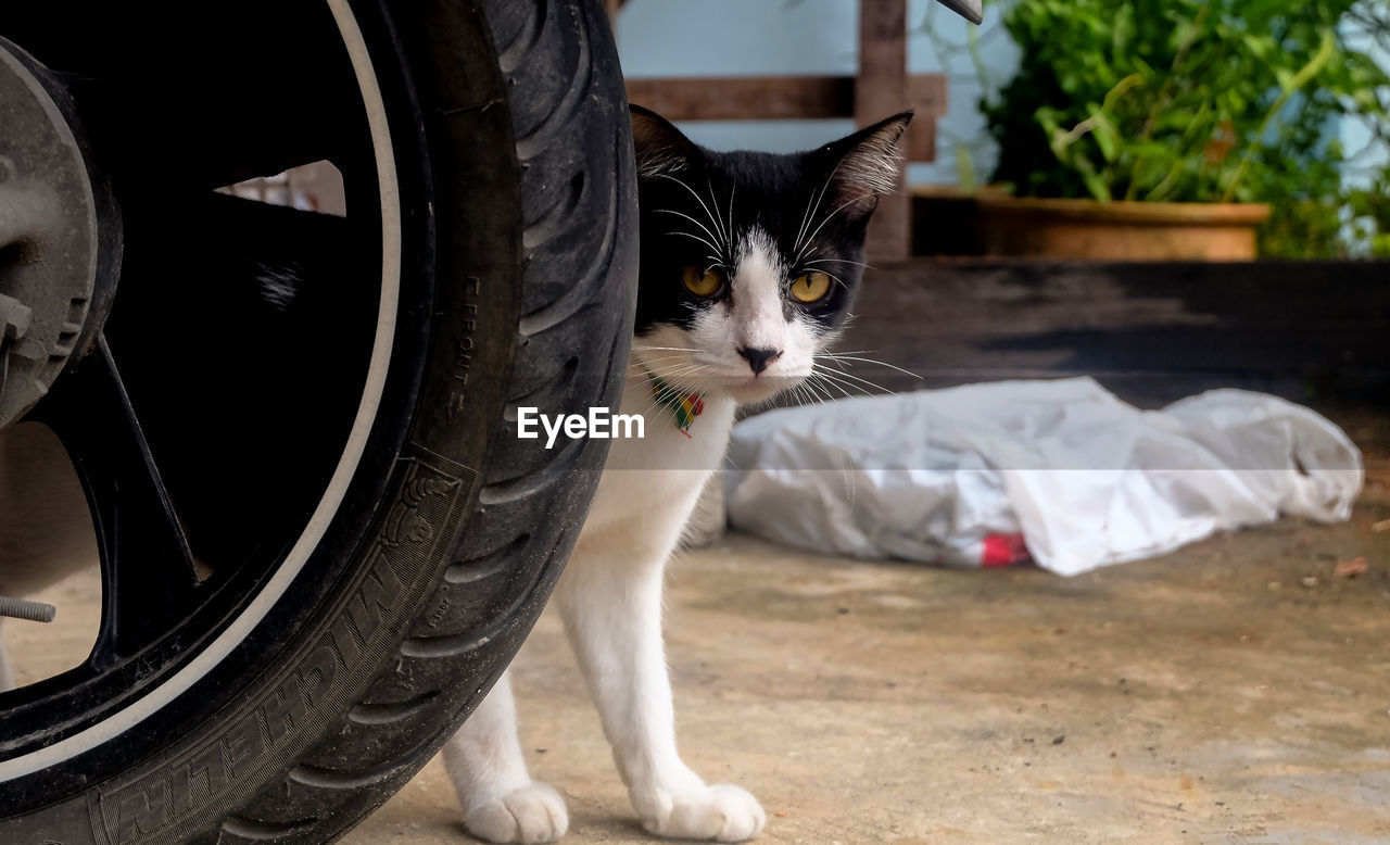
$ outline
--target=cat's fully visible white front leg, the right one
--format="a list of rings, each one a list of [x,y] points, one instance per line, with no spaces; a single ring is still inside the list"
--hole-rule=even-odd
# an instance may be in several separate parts
[[[706,785],[676,750],[662,649],[662,568],[669,549],[659,560],[632,563],[596,560],[585,545],[570,557],[557,598],[642,827],[681,839],[756,837],[767,821],[758,799],[739,787]]]

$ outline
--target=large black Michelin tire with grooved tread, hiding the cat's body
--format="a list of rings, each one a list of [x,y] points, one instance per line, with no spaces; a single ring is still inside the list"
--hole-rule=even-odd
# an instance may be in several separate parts
[[[67,756],[68,735],[35,742],[40,767],[7,770],[29,746],[0,745],[0,842],[336,839],[482,699],[582,525],[606,441],[546,450],[514,409],[585,413],[623,386],[637,190],[602,6],[329,4],[399,181],[382,410],[303,568],[213,632],[245,623],[225,655],[199,664],[200,641],[183,688]]]

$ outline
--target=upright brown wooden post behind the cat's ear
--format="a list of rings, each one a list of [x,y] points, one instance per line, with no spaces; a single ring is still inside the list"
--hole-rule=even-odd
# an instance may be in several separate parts
[[[859,0],[855,122],[867,126],[908,106],[908,1]],[[910,129],[909,129],[910,132]],[[913,149],[910,142],[905,150]],[[880,197],[865,252],[870,261],[908,257],[908,195]]]

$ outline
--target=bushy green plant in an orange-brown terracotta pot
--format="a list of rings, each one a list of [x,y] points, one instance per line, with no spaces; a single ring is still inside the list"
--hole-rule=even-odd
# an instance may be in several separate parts
[[[1352,46],[1384,36],[1384,3],[1001,8],[1020,68],[981,107],[1015,196],[980,200],[988,252],[1241,260],[1258,227],[1262,254],[1336,254],[1346,210],[1383,207],[1343,188],[1329,135],[1339,118],[1390,135],[1390,79]]]

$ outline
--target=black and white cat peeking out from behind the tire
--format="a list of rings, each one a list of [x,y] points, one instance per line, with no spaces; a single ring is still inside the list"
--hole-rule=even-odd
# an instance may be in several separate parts
[[[819,149],[716,153],[634,106],[641,215],[637,321],[624,414],[555,602],[642,826],[738,842],[766,813],[708,785],[676,749],[662,645],[662,581],[739,406],[817,371],[862,277],[865,229],[894,190],[912,113]],[[443,749],[464,826],[489,842],[564,835],[564,802],[531,780],[506,674]]]

